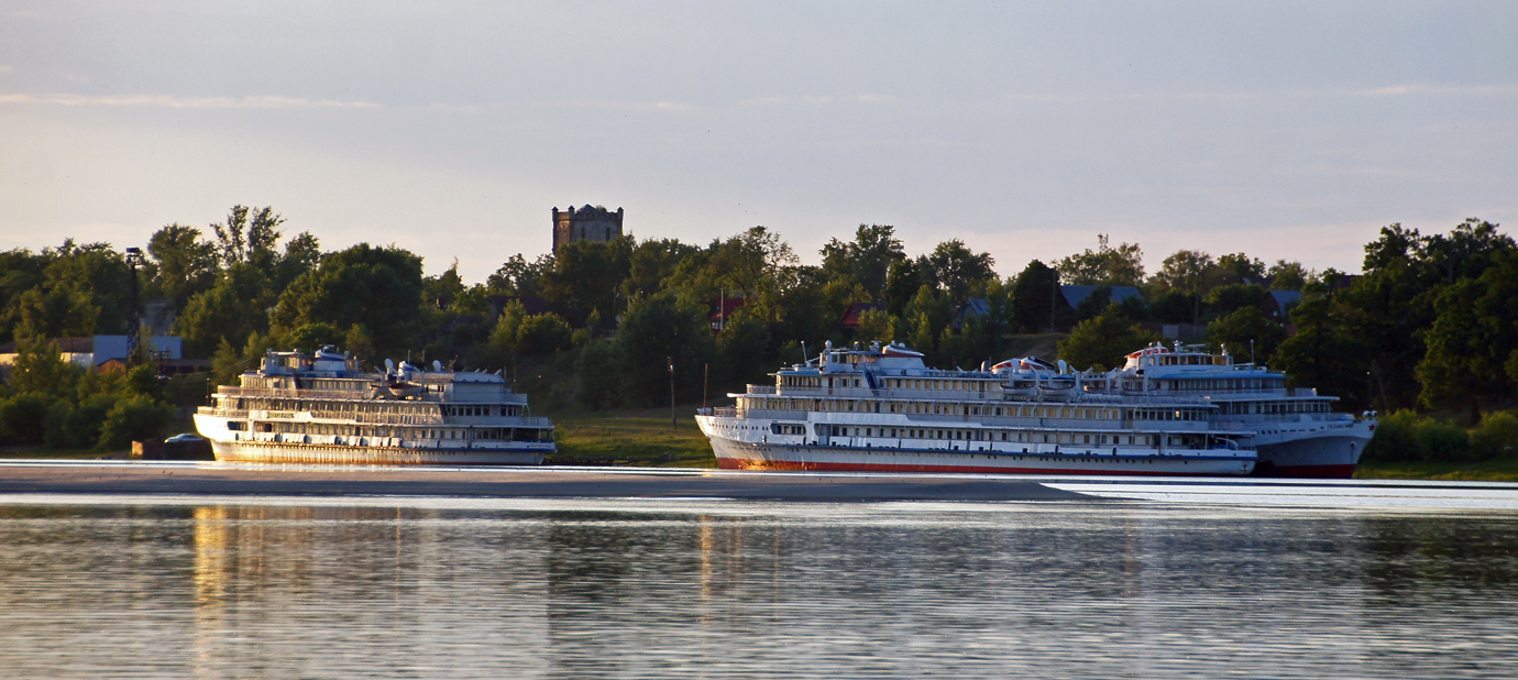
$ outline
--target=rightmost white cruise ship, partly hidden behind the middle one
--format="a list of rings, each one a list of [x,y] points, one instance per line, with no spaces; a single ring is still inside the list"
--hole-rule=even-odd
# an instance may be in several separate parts
[[[1334,413],[1336,396],[1312,387],[1286,387],[1287,376],[1266,366],[1234,363],[1227,352],[1175,343],[1128,355],[1105,384],[1088,389],[1135,399],[1205,399],[1225,427],[1252,433],[1242,442],[1258,451],[1260,475],[1348,478],[1375,434],[1375,414]]]

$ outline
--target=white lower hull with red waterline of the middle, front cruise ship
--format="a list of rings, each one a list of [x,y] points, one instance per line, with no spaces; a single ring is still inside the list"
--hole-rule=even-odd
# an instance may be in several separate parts
[[[961,472],[1011,475],[1248,475],[1248,455],[1111,455],[1099,452],[1002,452],[911,448],[855,448],[739,442],[713,434],[698,416],[718,468],[745,471]],[[1233,452],[1231,452],[1233,454]]]

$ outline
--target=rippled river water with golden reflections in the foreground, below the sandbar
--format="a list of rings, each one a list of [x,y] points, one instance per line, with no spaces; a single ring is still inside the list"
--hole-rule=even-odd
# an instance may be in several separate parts
[[[1510,513],[178,502],[0,504],[0,675],[1518,677]]]

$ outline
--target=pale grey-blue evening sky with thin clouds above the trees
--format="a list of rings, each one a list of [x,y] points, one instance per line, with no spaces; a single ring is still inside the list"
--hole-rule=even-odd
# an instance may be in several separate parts
[[[465,281],[551,208],[894,225],[1002,275],[1113,243],[1359,272],[1518,225],[1518,3],[0,0],[0,249],[270,205]]]

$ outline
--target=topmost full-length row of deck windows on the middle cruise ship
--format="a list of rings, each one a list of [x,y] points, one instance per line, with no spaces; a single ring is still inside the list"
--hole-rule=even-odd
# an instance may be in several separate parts
[[[1120,408],[1073,408],[1073,407],[982,407],[940,402],[876,402],[832,399],[776,399],[741,396],[744,408],[768,411],[842,411],[842,413],[906,413],[935,416],[1008,416],[1008,417],[1066,417],[1113,420],[1123,417]],[[1199,408],[1134,408],[1128,417],[1134,420],[1207,420],[1208,411]]]

